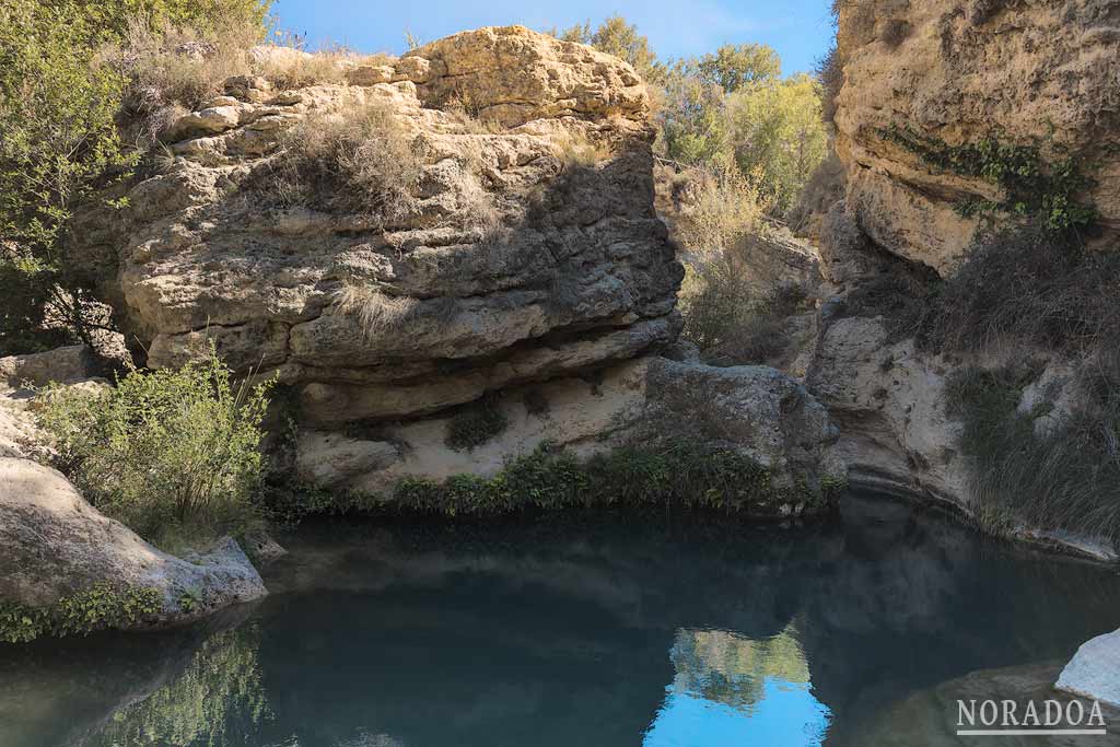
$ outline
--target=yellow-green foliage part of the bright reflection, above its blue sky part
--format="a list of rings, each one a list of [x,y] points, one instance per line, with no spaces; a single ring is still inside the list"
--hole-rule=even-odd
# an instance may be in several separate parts
[[[750,713],[767,679],[808,683],[809,664],[791,624],[763,641],[727,631],[678,631],[670,652],[678,692]]]

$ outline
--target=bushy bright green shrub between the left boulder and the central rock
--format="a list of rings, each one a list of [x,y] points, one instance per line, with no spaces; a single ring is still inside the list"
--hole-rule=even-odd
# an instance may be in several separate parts
[[[38,421],[99,510],[165,547],[204,542],[258,520],[270,385],[235,385],[212,348],[203,363],[133,371],[96,394],[49,387]]]

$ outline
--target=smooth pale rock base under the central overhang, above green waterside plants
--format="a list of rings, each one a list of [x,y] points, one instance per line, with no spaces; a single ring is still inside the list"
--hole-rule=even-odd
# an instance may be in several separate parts
[[[771,470],[775,487],[808,496],[821,496],[822,486],[847,477],[828,411],[794,379],[766,366],[644,357],[586,377],[511,387],[491,407],[507,426],[470,449],[447,443],[454,413],[385,424],[366,438],[305,431],[297,471],[332,489],[388,495],[404,477],[491,476],[545,442],[586,458],[675,435],[749,456]]]

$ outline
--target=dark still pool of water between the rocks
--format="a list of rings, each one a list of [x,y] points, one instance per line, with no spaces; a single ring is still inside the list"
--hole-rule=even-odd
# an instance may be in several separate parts
[[[576,514],[284,540],[271,596],[205,625],[0,648],[0,745],[967,744],[953,692],[1045,690],[1120,626],[1112,569],[871,496],[806,527]]]

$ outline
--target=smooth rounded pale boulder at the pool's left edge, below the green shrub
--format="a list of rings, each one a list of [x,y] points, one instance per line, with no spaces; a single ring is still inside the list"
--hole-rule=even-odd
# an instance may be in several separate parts
[[[175,558],[94,510],[58,471],[0,458],[0,599],[47,608],[97,585],[159,592],[143,627],[198,619],[267,594],[237,543]]]

